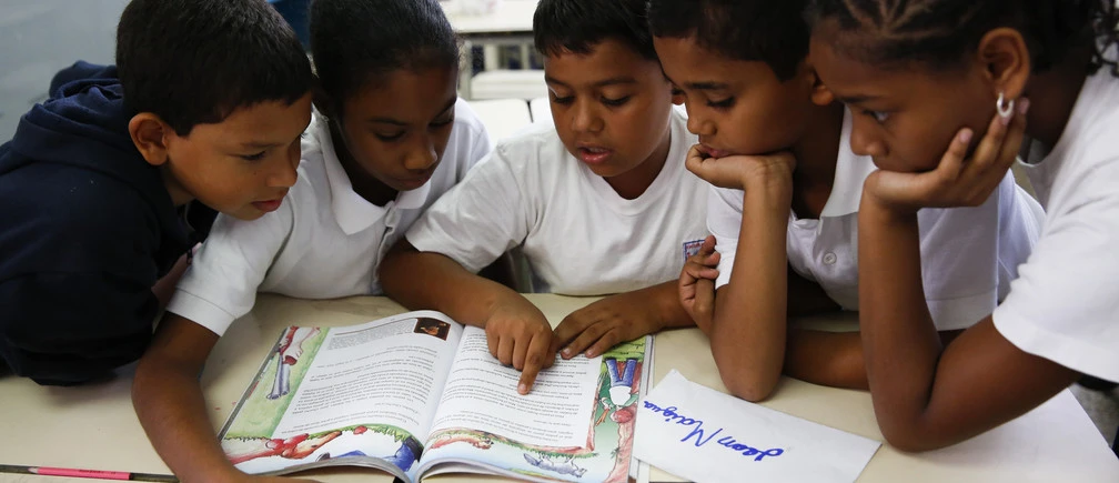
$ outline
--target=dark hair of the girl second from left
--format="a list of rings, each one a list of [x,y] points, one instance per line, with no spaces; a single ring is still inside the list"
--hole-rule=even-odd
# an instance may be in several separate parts
[[[316,73],[336,110],[394,70],[459,65],[458,36],[436,0],[314,0],[310,30]]]

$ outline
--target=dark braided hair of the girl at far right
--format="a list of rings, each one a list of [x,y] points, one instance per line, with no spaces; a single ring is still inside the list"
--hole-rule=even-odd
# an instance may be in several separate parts
[[[1117,44],[1113,0],[812,0],[809,22],[827,22],[839,51],[863,61],[934,68],[958,66],[982,36],[998,27],[1018,30],[1035,72],[1074,49],[1097,47],[1089,70],[1110,66],[1103,53]]]

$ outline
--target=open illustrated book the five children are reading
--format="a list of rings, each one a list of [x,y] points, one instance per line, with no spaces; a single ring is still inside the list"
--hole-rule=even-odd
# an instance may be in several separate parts
[[[219,438],[251,474],[357,465],[406,482],[448,472],[626,482],[651,350],[643,338],[557,358],[521,396],[519,371],[490,356],[485,331],[438,312],[291,326]]]

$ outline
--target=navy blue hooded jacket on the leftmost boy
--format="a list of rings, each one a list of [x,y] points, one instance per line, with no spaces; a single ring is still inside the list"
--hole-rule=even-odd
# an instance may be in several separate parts
[[[151,286],[196,236],[132,143],[115,67],[79,61],[49,94],[0,145],[0,357],[73,385],[143,353]]]

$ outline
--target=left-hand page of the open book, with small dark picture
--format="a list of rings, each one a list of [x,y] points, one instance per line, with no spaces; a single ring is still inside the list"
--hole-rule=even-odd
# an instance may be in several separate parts
[[[226,455],[246,473],[346,456],[386,460],[407,472],[461,333],[435,312],[289,328],[223,429]]]

